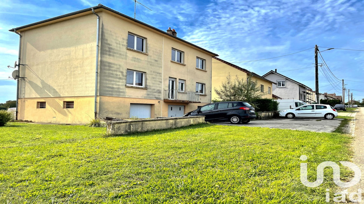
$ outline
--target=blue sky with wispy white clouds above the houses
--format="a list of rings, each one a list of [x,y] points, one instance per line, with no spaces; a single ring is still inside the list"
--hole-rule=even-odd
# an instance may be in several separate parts
[[[315,89],[314,45],[353,98],[364,98],[363,0],[138,0],[136,18],[223,60],[260,75],[279,73]],[[18,35],[8,30],[99,3],[133,17],[133,0],[4,0],[0,4],[0,102],[16,99],[8,80],[18,56]],[[348,50],[340,50],[348,49]],[[304,51],[306,50],[306,51]],[[301,52],[298,52],[301,51]],[[290,53],[295,53],[287,55]],[[287,55],[283,57],[278,57]],[[277,58],[273,58],[277,57]],[[269,60],[261,60],[273,58]],[[259,61],[256,61],[259,60]],[[319,58],[319,63],[322,59]],[[320,93],[342,95],[342,83],[320,67]],[[346,97],[347,99],[347,97]]]

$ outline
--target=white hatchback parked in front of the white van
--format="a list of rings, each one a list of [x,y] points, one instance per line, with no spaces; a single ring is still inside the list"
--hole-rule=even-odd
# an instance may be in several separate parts
[[[295,117],[333,119],[337,117],[337,111],[331,105],[312,104],[302,105],[295,109],[283,110],[280,112],[280,116],[288,119]]]

